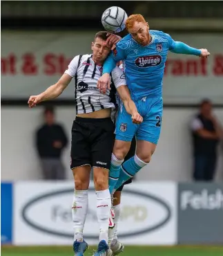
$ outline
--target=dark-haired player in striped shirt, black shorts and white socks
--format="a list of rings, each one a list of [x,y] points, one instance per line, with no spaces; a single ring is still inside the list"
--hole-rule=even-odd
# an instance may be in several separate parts
[[[70,168],[75,179],[75,193],[72,202],[72,220],[74,223],[75,256],[83,256],[88,248],[84,241],[83,230],[88,211],[88,187],[90,170],[93,167],[94,183],[97,194],[97,219],[99,222],[99,244],[95,256],[113,255],[108,246],[108,223],[110,217],[110,192],[108,190],[108,171],[113,151],[114,125],[110,119],[111,109],[115,107],[116,89],[124,106],[130,113],[132,122],[142,122],[135,103],[130,98],[126,77],[116,67],[110,73],[111,90],[101,93],[97,81],[101,76],[102,65],[110,53],[106,44],[107,33],[100,31],[92,42],[93,54],[77,55],[70,62],[64,75],[56,84],[39,95],[32,95],[29,107],[35,107],[43,100],[57,98],[66,89],[74,77],[76,119],[72,125]]]

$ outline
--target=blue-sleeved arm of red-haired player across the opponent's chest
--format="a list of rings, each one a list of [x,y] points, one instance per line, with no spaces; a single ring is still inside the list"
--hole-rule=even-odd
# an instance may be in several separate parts
[[[116,63],[120,60],[126,59],[126,53],[124,49],[119,46],[120,43],[122,42],[117,44],[117,46],[113,49],[110,55],[108,55],[106,61],[104,62],[103,73],[97,82],[97,88],[102,93],[105,93],[106,89],[110,89],[110,72],[113,71]]]

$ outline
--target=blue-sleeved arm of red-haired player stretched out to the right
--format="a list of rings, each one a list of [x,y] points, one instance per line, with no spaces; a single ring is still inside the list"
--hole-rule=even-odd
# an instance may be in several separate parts
[[[206,49],[197,49],[183,42],[177,42],[172,39],[172,37],[166,34],[166,39],[168,40],[169,50],[172,53],[180,53],[180,54],[188,54],[188,55],[195,55],[200,57],[208,57],[210,55],[209,51]]]

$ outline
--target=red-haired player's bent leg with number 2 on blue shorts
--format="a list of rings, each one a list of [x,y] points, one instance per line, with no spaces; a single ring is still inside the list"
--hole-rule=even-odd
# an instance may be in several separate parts
[[[135,156],[122,165],[115,189],[148,165],[159,140],[162,122],[162,98],[146,98],[146,100],[141,100],[140,104],[142,111],[144,111],[144,121],[139,125],[136,134],[137,151]]]

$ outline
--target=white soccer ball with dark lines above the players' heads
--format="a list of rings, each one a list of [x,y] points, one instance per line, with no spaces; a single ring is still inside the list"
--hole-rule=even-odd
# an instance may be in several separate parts
[[[117,6],[106,9],[101,16],[101,23],[110,33],[119,33],[126,27],[126,12]]]

